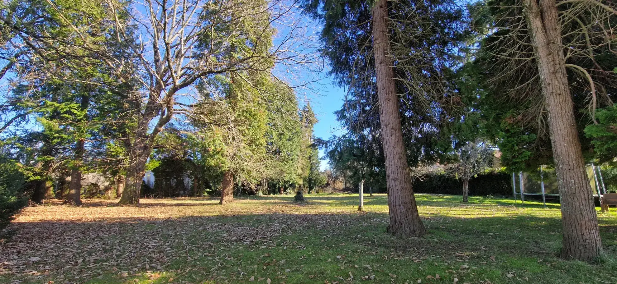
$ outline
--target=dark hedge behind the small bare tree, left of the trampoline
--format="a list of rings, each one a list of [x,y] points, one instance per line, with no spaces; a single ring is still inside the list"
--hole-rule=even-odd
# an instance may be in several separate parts
[[[413,183],[413,192],[457,194],[463,192],[463,182],[452,176],[433,175]],[[512,195],[512,176],[508,173],[484,173],[469,181],[469,195]]]

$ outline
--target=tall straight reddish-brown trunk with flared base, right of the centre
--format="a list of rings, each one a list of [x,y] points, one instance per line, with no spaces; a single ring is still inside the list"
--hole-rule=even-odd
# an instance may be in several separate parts
[[[407,153],[403,144],[399,100],[395,93],[394,70],[389,58],[391,48],[387,5],[386,0],[378,0],[372,10],[373,52],[375,52],[379,119],[386,158],[387,201],[390,211],[387,232],[398,237],[419,237],[426,234],[426,228],[418,215]]]

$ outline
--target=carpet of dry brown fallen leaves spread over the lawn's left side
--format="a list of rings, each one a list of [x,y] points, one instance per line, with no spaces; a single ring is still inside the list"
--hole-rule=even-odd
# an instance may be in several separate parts
[[[481,280],[482,269],[499,267],[491,256],[500,251],[494,243],[444,244],[441,237],[387,243],[387,236],[379,235],[385,230],[367,237],[367,228],[386,226],[387,210],[358,217],[341,214],[344,207],[337,203],[328,208],[333,211],[325,211],[260,200],[250,201],[251,207],[244,207],[242,200],[226,208],[207,205],[214,200],[187,200],[144,200],[138,207],[101,201],[111,206],[26,208],[12,225],[15,237],[2,243],[0,282],[85,283],[107,275],[115,279],[110,283],[292,284],[301,275],[306,283],[488,284]],[[431,217],[426,223],[440,227],[437,222],[450,221]],[[450,231],[452,226],[458,225],[453,221],[441,229]],[[434,247],[435,242],[444,246]],[[244,251],[236,250],[239,247]],[[507,259],[499,255],[500,262]],[[317,261],[323,267],[315,267]],[[550,267],[550,261],[538,262]],[[502,280],[531,278],[518,267],[508,269],[517,273],[501,274]]]

